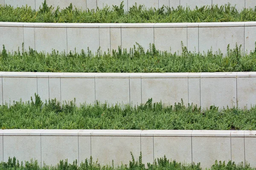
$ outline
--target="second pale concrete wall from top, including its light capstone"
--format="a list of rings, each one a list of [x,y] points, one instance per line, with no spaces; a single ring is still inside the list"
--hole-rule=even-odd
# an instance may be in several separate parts
[[[189,51],[207,52],[219,49],[227,53],[227,45],[242,51],[255,50],[256,22],[230,23],[4,23],[0,22],[0,45],[17,51],[24,43],[37,51],[87,51],[99,47],[108,52],[133,48],[139,43],[145,49],[154,43],[161,51],[181,52],[181,42]],[[58,42],[58,43],[56,43]]]

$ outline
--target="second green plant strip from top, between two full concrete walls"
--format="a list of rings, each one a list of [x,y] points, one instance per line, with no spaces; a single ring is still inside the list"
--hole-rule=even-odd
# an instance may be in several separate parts
[[[100,50],[99,50],[100,51]],[[201,54],[183,47],[179,53],[160,52],[154,44],[145,51],[140,45],[130,51],[119,48],[112,54],[81,51],[44,54],[32,49],[8,53],[0,51],[0,71],[26,72],[94,72],[94,73],[159,73],[159,72],[231,72],[256,71],[256,50],[244,55],[241,46],[221,52]]]

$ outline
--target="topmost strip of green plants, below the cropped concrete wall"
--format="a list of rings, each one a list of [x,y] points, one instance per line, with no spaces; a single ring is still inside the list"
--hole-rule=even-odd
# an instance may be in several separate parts
[[[64,9],[48,6],[46,1],[38,11],[31,7],[0,5],[0,22],[32,23],[195,23],[195,22],[239,22],[256,21],[256,8],[236,10],[230,4],[225,6],[203,6],[201,8],[162,7],[146,9],[141,5],[132,6],[128,12],[120,6],[105,6],[102,9],[82,11],[72,4]]]

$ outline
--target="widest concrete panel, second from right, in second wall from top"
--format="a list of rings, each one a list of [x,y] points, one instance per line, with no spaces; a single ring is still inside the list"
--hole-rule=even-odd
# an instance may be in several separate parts
[[[200,52],[207,52],[212,47],[212,51],[220,49],[225,55],[227,45],[230,44],[230,49],[233,49],[236,43],[238,46],[242,45],[241,48],[244,49],[244,27],[199,27]]]

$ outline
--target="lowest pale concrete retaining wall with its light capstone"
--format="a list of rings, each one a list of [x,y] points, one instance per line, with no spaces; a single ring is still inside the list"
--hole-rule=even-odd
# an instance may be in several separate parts
[[[205,169],[218,161],[256,167],[256,131],[244,130],[0,130],[0,161],[37,159],[55,165],[61,159],[80,164],[86,158],[100,164],[128,164],[133,153],[143,163],[166,155]],[[3,143],[2,143],[3,142]],[[254,148],[254,149],[253,149]]]

